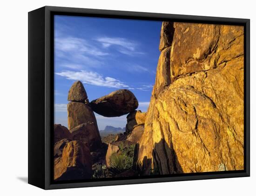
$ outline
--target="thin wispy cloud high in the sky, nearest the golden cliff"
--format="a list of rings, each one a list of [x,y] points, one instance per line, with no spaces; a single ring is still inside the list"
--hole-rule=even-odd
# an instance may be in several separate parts
[[[96,41],[101,43],[103,48],[109,48],[110,46],[115,46],[117,51],[122,54],[134,56],[145,54],[144,52],[137,51],[138,43],[132,40],[128,40],[126,38],[110,38],[110,37],[102,37],[96,38]]]

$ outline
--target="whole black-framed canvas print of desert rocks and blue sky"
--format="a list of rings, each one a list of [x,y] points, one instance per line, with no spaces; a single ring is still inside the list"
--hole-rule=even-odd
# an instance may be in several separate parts
[[[28,13],[28,183],[249,176],[249,19]]]

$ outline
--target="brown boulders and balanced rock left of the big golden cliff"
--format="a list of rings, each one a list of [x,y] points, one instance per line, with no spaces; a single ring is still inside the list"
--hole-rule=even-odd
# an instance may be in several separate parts
[[[121,153],[124,148],[128,148],[133,156],[134,146],[130,148],[130,145],[136,144],[142,135],[145,113],[135,111],[138,101],[131,91],[117,90],[89,103],[83,84],[77,81],[71,86],[67,100],[70,101],[67,104],[68,128],[60,124],[54,125],[54,180],[95,177],[98,175],[99,167],[104,167],[104,165],[110,167],[109,157],[115,152]],[[129,125],[128,132],[116,135],[114,142],[105,144],[101,142],[94,112],[108,117],[128,114],[128,116],[133,116],[134,123]],[[134,126],[138,124],[141,128],[136,128],[133,132]],[[124,148],[120,149],[118,144]],[[113,146],[113,151],[111,146]],[[114,150],[115,147],[118,149]],[[113,177],[113,175],[134,174],[135,171],[129,170],[111,175]]]

